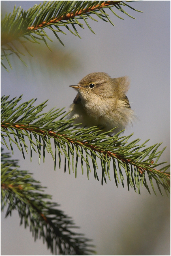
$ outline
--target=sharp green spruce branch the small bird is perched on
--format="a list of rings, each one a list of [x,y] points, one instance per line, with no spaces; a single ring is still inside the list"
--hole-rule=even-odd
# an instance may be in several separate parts
[[[47,152],[52,155],[56,169],[58,153],[60,168],[61,155],[64,154],[64,171],[66,171],[68,162],[69,173],[70,166],[72,166],[72,171],[75,172],[76,177],[78,157],[80,157],[82,173],[84,172],[83,163],[85,162],[87,178],[89,179],[89,172],[93,169],[95,179],[97,178],[97,180],[99,180],[97,174],[98,165],[96,161],[96,159],[99,158],[102,168],[102,184],[103,182],[106,182],[107,176],[110,180],[110,163],[112,161],[114,178],[117,186],[117,183],[119,183],[118,177],[120,176],[120,181],[124,187],[123,169],[127,178],[128,190],[129,186],[131,186],[134,188],[135,192],[138,191],[140,194],[140,185],[144,185],[149,191],[148,183],[146,181],[146,178],[148,177],[155,195],[156,192],[153,185],[154,180],[161,194],[162,191],[160,185],[164,188],[166,194],[167,191],[170,191],[170,173],[166,172],[170,165],[165,165],[158,169],[159,165],[166,163],[158,163],[158,160],[165,149],[158,151],[161,143],[146,147],[145,144],[148,140],[141,145],[137,144],[140,139],[128,143],[127,141],[132,134],[127,137],[119,137],[119,134],[122,131],[113,137],[110,137],[107,135],[109,132],[99,134],[100,131],[102,132],[102,130],[99,130],[99,127],[84,127],[79,129],[77,126],[73,126],[73,119],[65,119],[67,114],[65,114],[63,109],[55,110],[55,108],[52,108],[47,113],[40,114],[46,106],[47,101],[34,107],[34,99],[18,105],[21,96],[18,99],[13,98],[10,101],[8,101],[8,97],[9,96],[3,96],[1,98],[1,137],[3,139],[1,143],[6,145],[9,149],[7,144],[8,139],[12,153],[12,144],[14,143],[22,152],[23,157],[25,157],[24,149],[28,153],[28,143],[26,143],[25,139],[28,138],[31,160],[32,151],[34,150],[39,154],[39,164],[42,156],[41,147],[43,147],[43,162],[45,161],[45,152],[47,150]],[[58,120],[56,120],[57,118]],[[54,150],[52,149],[52,139],[54,141]],[[74,161],[75,157],[76,161]],[[90,166],[90,159],[93,167]]]

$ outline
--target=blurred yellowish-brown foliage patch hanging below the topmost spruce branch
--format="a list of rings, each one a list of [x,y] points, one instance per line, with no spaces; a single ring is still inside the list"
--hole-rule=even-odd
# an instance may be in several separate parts
[[[2,16],[5,16],[3,10],[4,6],[1,8],[1,13]],[[33,44],[27,40],[25,45],[27,49],[29,49],[30,54],[27,54],[27,50],[25,50],[23,45],[17,40],[15,40],[15,45],[17,49],[22,52],[22,58],[24,60],[26,59],[27,65],[30,65],[33,71],[41,70],[41,72],[48,72],[51,75],[56,75],[57,72],[60,74],[65,73],[66,76],[69,72],[73,73],[82,67],[76,49],[66,51],[65,48],[62,49],[61,46],[55,42],[50,45],[50,51],[46,44]],[[18,59],[16,59],[14,54],[10,55],[11,66],[18,65],[17,61]],[[8,65],[6,58],[3,60],[3,63],[5,66]],[[22,68],[22,65],[20,65],[20,67]]]

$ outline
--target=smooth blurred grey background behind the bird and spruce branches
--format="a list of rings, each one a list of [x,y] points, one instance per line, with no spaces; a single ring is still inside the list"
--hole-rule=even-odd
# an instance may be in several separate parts
[[[21,6],[24,10],[41,1],[1,1],[2,14]],[[28,44],[34,57],[23,57],[25,67],[16,56],[9,56],[13,70],[1,68],[1,95],[10,98],[23,94],[23,101],[38,98],[37,104],[49,99],[47,110],[66,106],[68,110],[76,91],[69,85],[78,83],[91,72],[106,72],[112,78],[129,76],[131,88],[127,94],[131,108],[139,121],[125,131],[134,132],[131,140],[150,138],[148,146],[163,142],[167,146],[161,162],[170,162],[170,1],[140,1],[125,10],[136,20],[115,10],[124,18],[117,18],[110,10],[113,27],[99,19],[89,19],[94,35],[85,25],[77,27],[82,39],[68,30],[60,33],[62,46],[48,30],[54,41],[45,45]],[[95,17],[96,18],[96,17]],[[8,150],[5,148],[5,152]],[[34,178],[47,186],[46,193],[72,216],[79,232],[93,239],[97,255],[170,255],[170,204],[157,191],[150,188],[138,195],[120,184],[117,188],[114,176],[101,186],[93,173],[87,180],[78,168],[77,179],[73,173],[64,174],[63,165],[54,172],[54,162],[46,153],[45,163],[38,164],[38,155],[26,155],[15,148],[13,159],[20,159],[21,169],[34,173]],[[101,176],[101,169],[98,171]],[[1,214],[1,255],[51,255],[42,240],[34,242],[29,228],[20,226],[17,211],[11,217]]]

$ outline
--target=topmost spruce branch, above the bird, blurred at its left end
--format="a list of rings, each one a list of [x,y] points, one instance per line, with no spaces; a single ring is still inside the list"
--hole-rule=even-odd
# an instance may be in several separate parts
[[[21,10],[21,7],[16,9],[16,6],[14,6],[13,13],[6,13],[4,19],[1,21],[1,50],[3,52],[1,59],[3,60],[5,57],[8,65],[12,69],[8,55],[15,54],[27,66],[21,58],[21,55],[25,56],[23,49],[33,56],[28,46],[26,46],[27,41],[38,44],[43,41],[50,49],[47,40],[52,41],[52,39],[50,39],[48,31],[45,31],[46,28],[53,31],[57,40],[64,46],[58,35],[59,33],[66,35],[62,27],[67,28],[72,34],[80,37],[76,29],[78,25],[84,28],[80,20],[84,21],[93,33],[95,32],[88,24],[87,19],[90,18],[97,21],[93,18],[95,15],[103,21],[110,22],[114,25],[110,20],[109,14],[105,12],[106,8],[119,18],[121,17],[114,12],[113,7],[131,18],[134,17],[128,14],[122,7],[129,7],[141,12],[126,2],[130,1],[44,1],[42,5],[34,5],[27,11]],[[4,63],[1,62],[1,64],[8,71]]]

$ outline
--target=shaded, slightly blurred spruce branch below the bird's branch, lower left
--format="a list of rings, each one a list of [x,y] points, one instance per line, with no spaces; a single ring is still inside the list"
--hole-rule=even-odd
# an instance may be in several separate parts
[[[35,240],[46,242],[55,255],[90,255],[91,241],[83,234],[71,231],[74,222],[63,211],[57,210],[59,204],[51,202],[51,195],[44,194],[40,182],[31,173],[19,170],[18,160],[10,160],[9,153],[1,155],[1,210],[8,206],[6,217],[18,210],[20,225],[30,227]],[[47,201],[48,200],[48,201]]]

